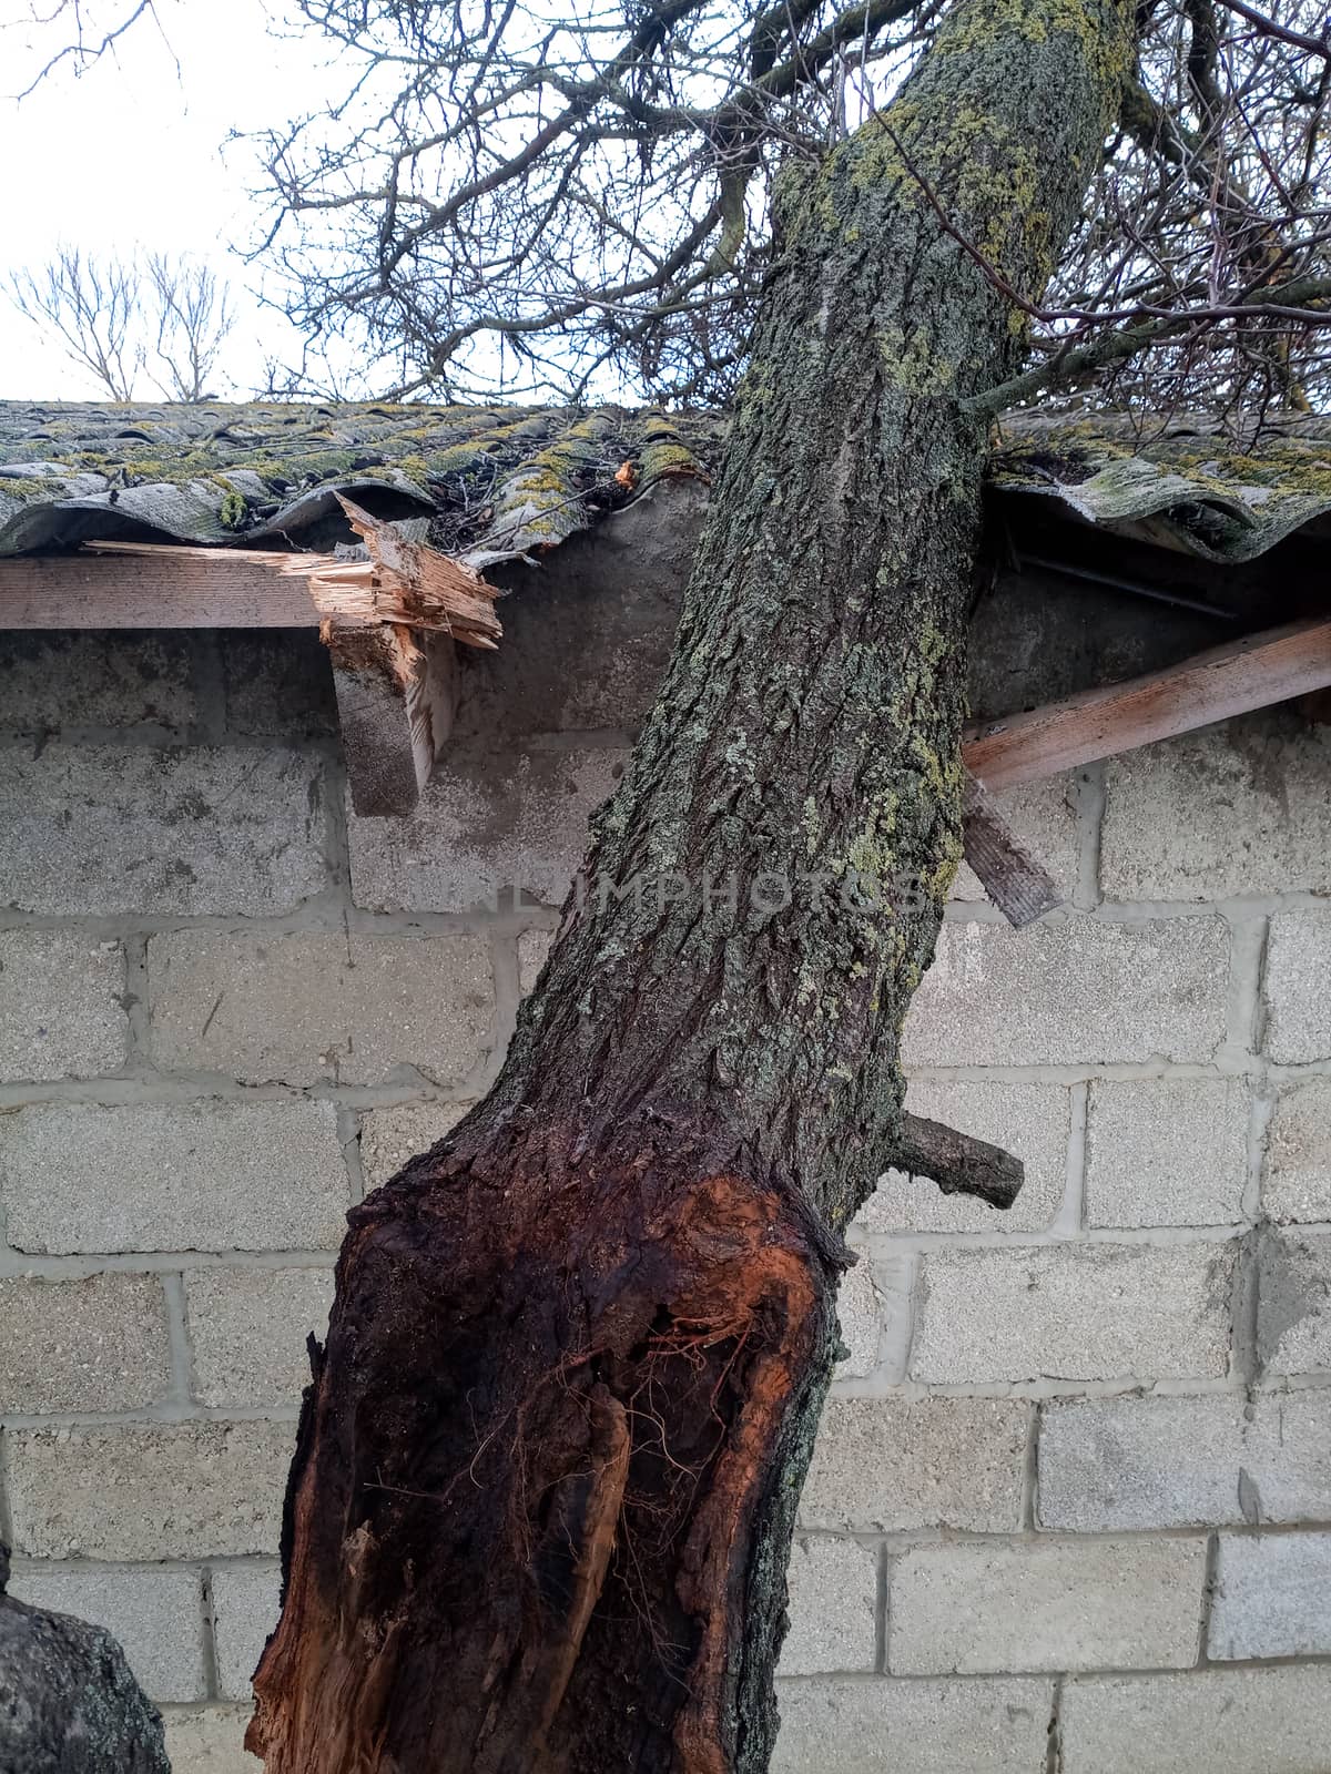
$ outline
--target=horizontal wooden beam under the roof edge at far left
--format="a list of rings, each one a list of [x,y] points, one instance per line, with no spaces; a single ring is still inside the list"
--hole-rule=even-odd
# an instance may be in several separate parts
[[[133,548],[133,559],[76,553],[0,561],[0,628],[316,628],[319,623],[307,580],[275,569],[273,561],[282,555],[144,543]]]

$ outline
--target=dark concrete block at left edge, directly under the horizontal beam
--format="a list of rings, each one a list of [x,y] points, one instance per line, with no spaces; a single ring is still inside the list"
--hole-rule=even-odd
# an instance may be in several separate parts
[[[0,632],[0,726],[186,727],[199,718],[195,639],[176,628]]]

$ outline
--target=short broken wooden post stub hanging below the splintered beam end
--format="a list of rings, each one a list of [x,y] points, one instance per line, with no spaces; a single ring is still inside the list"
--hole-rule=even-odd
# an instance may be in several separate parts
[[[351,805],[410,812],[453,727],[456,655],[449,635],[394,623],[327,623]]]

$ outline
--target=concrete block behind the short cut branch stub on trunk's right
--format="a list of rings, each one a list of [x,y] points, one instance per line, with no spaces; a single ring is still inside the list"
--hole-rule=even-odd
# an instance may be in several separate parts
[[[887,1171],[859,1212],[870,1235],[902,1231],[1044,1231],[1063,1203],[1070,1095],[1061,1084],[990,1084],[985,1079],[910,1079],[907,1109],[1003,1146],[1026,1166],[1015,1205],[996,1213],[969,1196],[944,1196],[928,1178]]]

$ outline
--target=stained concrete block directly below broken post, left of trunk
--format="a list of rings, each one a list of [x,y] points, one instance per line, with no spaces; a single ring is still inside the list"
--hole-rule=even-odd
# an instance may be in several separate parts
[[[559,905],[587,848],[587,818],[625,750],[449,749],[415,812],[348,812],[351,891],[373,912],[472,912],[513,889]]]

